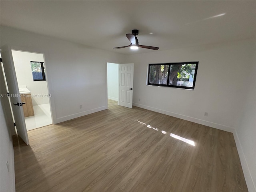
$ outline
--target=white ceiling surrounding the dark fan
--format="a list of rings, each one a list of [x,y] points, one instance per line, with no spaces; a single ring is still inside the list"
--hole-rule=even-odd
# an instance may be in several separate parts
[[[0,7],[1,25],[122,54],[156,51],[113,49],[129,45],[133,29],[140,44],[159,50],[256,36],[256,1],[1,0]]]

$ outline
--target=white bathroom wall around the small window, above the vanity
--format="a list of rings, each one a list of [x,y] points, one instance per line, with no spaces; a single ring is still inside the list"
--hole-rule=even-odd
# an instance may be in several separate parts
[[[36,97],[35,95],[48,95],[46,81],[34,81],[30,61],[44,62],[44,55],[31,52],[12,50],[15,72],[18,85],[26,85],[31,91],[32,103],[34,105],[48,104],[48,97]],[[47,80],[47,79],[46,79]]]

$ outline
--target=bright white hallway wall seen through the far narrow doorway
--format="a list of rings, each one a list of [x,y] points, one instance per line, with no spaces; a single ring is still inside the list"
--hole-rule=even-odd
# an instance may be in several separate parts
[[[118,64],[108,63],[108,99],[118,100]]]

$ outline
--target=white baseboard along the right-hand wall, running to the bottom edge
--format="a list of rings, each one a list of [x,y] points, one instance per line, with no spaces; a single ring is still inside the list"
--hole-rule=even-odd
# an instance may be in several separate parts
[[[237,152],[238,152],[240,162],[241,162],[241,165],[242,165],[242,169],[243,169],[243,172],[244,172],[244,178],[245,178],[245,181],[246,181],[248,191],[249,192],[256,192],[256,187],[253,183],[252,175],[250,173],[250,169],[248,167],[246,158],[244,156],[244,151],[242,149],[242,145],[240,143],[240,140],[238,138],[236,130],[234,130],[233,135],[234,135],[234,139],[235,139],[235,142],[236,142],[236,148],[237,148]]]

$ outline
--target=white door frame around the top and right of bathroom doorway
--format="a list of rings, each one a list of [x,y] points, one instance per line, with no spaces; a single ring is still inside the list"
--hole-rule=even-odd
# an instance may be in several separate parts
[[[48,88],[48,93],[51,94],[51,97],[49,97],[49,104],[50,104],[52,124],[56,124],[57,116],[56,116],[55,103],[54,103],[54,90],[52,88],[52,84],[50,83],[50,82],[52,82],[51,76],[47,72],[47,66],[49,66],[48,52],[45,52],[44,50],[42,50],[40,48],[27,48],[27,47],[23,47],[23,46],[12,46],[12,45],[10,46],[10,49],[15,50],[15,51],[43,54],[43,56],[44,56],[44,68],[45,68],[45,71],[46,71],[46,84],[47,84],[47,88]]]

